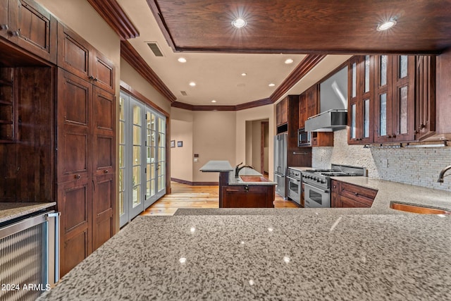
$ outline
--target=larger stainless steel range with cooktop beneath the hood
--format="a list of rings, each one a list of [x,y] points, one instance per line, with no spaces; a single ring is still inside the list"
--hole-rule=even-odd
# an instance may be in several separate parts
[[[330,208],[330,177],[366,176],[366,168],[332,164],[330,169],[302,171],[305,208]]]

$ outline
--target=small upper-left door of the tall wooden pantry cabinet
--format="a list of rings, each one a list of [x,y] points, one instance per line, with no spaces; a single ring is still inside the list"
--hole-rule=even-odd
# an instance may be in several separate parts
[[[92,78],[91,45],[63,24],[58,24],[58,66],[84,80]]]

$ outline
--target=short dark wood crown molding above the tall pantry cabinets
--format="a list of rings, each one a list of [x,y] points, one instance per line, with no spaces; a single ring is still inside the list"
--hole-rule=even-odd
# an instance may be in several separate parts
[[[140,36],[140,32],[116,0],[87,1],[122,40]]]

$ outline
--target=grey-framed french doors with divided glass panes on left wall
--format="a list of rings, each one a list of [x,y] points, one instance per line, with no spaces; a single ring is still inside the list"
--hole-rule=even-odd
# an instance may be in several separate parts
[[[124,92],[119,111],[122,227],[166,193],[166,116]]]

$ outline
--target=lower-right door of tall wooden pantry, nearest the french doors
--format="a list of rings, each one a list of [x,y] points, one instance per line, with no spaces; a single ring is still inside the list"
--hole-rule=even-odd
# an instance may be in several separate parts
[[[115,233],[115,176],[95,176],[92,180],[92,251]]]

